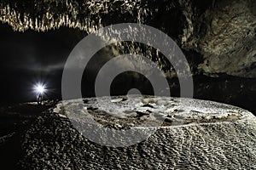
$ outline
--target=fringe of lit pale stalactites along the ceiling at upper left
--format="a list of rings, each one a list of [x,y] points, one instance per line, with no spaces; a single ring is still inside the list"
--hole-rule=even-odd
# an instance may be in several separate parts
[[[117,8],[119,4],[119,8]],[[0,20],[8,23],[15,31],[48,31],[61,26],[79,28],[80,30],[95,31],[107,26],[109,23],[102,23],[102,18],[113,12],[119,14],[130,14],[134,22],[141,23],[143,19],[138,17],[145,7],[139,6],[139,0],[103,0],[84,1],[78,3],[76,0],[67,1],[8,1],[0,3]],[[33,7],[33,8],[28,8]],[[117,16],[118,17],[118,16]]]

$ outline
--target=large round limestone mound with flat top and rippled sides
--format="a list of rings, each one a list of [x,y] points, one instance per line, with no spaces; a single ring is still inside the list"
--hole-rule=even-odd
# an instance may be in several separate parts
[[[79,101],[60,102],[38,117],[24,135],[21,167],[256,169],[256,118],[236,106],[199,99],[136,95],[83,99],[83,104]],[[73,112],[68,112],[72,109]],[[126,147],[96,144],[71,123],[83,124],[86,122],[83,115],[89,114],[101,124],[99,128],[145,130],[152,127],[140,125],[157,120],[154,113],[166,118],[162,125],[153,124],[157,129],[154,134]]]

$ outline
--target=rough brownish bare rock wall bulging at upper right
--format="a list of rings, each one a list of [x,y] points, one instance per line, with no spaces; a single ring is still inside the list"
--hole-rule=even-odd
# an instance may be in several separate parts
[[[204,57],[198,69],[205,73],[226,73],[256,77],[255,1],[216,1],[201,15],[183,37],[183,47],[195,49]],[[191,29],[194,28],[194,29]]]

